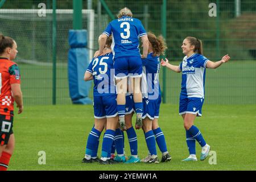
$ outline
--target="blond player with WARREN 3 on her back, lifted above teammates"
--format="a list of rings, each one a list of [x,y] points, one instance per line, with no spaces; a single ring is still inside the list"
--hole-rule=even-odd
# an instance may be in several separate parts
[[[104,45],[108,36],[113,35],[113,59],[115,69],[115,80],[117,82],[117,110],[121,129],[125,126],[125,95],[127,92],[127,77],[131,78],[131,85],[137,121],[135,127],[142,127],[142,94],[141,75],[142,61],[139,53],[139,38],[143,43],[143,57],[147,56],[148,38],[147,33],[139,19],[133,18],[131,10],[127,7],[118,13],[118,19],[113,20],[106,27],[100,40],[100,52],[102,55]]]

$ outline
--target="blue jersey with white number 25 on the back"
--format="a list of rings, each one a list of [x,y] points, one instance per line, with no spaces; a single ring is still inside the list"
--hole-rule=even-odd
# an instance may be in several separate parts
[[[95,57],[86,72],[93,75],[93,96],[115,94],[113,53]]]

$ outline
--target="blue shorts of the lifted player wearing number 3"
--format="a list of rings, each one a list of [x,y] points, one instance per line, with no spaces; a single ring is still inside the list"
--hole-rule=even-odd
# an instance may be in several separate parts
[[[141,57],[118,57],[114,59],[115,78],[122,79],[126,77],[142,76],[142,60]]]

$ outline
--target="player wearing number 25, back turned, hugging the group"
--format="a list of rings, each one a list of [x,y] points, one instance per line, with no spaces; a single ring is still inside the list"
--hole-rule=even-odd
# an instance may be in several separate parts
[[[82,162],[92,162],[92,154],[97,150],[98,139],[104,129],[106,122],[106,132],[102,142],[100,164],[110,164],[110,152],[115,136],[115,129],[118,124],[117,102],[114,81],[111,79],[111,69],[113,69],[113,54],[110,48],[112,37],[106,41],[104,54],[94,57],[86,69],[84,80],[94,81],[93,87],[93,107],[94,107],[94,127],[90,131],[86,155]]]

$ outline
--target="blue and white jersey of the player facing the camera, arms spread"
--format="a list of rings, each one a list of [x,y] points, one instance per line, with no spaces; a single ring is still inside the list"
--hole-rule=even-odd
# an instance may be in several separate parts
[[[181,97],[204,98],[205,68],[208,59],[199,53],[185,56],[179,65],[182,72]]]

